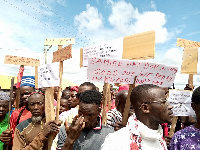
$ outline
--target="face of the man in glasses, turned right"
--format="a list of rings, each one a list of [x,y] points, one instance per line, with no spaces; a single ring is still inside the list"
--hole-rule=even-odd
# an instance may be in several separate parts
[[[172,106],[166,100],[165,91],[161,88],[150,89],[150,94],[147,96],[149,105],[149,112],[152,121],[158,123],[170,123],[173,118]]]

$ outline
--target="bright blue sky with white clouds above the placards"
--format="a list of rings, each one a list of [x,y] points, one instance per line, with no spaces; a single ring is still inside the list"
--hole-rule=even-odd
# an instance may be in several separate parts
[[[0,75],[16,76],[19,65],[4,64],[5,55],[41,59],[47,38],[75,38],[72,58],[64,61],[63,78],[81,84],[87,68],[80,68],[80,48],[155,30],[155,58],[149,62],[179,67],[175,87],[183,89],[188,76],[180,74],[183,48],[177,38],[200,42],[199,0],[1,0]],[[46,46],[46,49],[49,47]],[[47,53],[51,63],[53,46]],[[24,75],[34,75],[25,66]],[[200,78],[194,75],[194,85]]]

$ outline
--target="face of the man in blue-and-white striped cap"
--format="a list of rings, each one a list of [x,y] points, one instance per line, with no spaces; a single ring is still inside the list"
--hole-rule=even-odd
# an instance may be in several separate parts
[[[27,97],[32,92],[33,92],[33,87],[30,87],[30,86],[22,86],[22,87],[20,87],[20,103],[23,103],[24,105],[27,105],[28,104]]]

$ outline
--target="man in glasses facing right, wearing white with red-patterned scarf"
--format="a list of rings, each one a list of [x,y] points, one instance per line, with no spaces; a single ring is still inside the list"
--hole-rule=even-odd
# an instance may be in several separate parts
[[[135,114],[129,117],[126,127],[108,135],[102,150],[167,150],[160,124],[171,122],[173,113],[165,91],[152,84],[139,85],[130,100]]]

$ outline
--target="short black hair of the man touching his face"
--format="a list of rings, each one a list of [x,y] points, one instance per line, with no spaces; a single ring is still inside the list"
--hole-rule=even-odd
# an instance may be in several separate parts
[[[80,103],[96,104],[100,106],[101,99],[101,93],[96,90],[87,90],[80,95]]]

